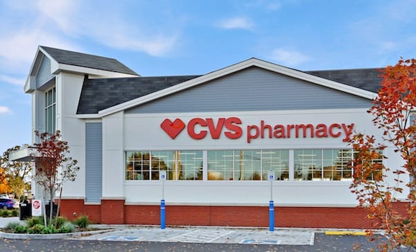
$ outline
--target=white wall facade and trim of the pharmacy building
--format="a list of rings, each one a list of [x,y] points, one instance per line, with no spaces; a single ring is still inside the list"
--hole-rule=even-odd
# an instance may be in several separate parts
[[[42,51],[42,50],[41,50]],[[43,52],[46,56],[47,53]],[[45,57],[46,57],[45,56]],[[52,57],[51,57],[52,59]],[[53,60],[53,59],[52,59]],[[244,62],[243,62],[244,63]],[[162,181],[155,180],[127,180],[125,153],[128,151],[158,151],[158,150],[198,150],[202,151],[202,180],[172,181],[164,183],[164,198],[171,205],[192,206],[266,206],[270,200],[270,181],[211,181],[207,177],[207,152],[211,150],[288,150],[289,177],[287,181],[274,181],[272,195],[276,206],[357,206],[356,196],[349,188],[351,180],[326,181],[324,179],[311,181],[296,181],[294,179],[294,151],[295,150],[327,150],[350,149],[346,141],[349,134],[363,132],[374,134],[381,139],[381,132],[372,125],[372,117],[367,114],[368,108],[363,109],[302,109],[302,110],[275,110],[275,111],[211,111],[194,112],[189,108],[187,113],[164,114],[133,114],[125,113],[126,109],[139,106],[182,89],[197,86],[198,84],[214,80],[221,76],[236,73],[248,67],[249,64],[275,71],[315,83],[323,87],[331,87],[345,93],[371,99],[374,93],[363,91],[345,84],[324,80],[312,75],[297,73],[291,69],[275,66],[267,62],[248,61],[244,65],[236,64],[219,71],[214,71],[200,78],[178,84],[175,87],[151,93],[148,96],[125,102],[99,111],[98,114],[77,114],[78,101],[83,89],[85,74],[96,73],[91,69],[67,68],[59,64],[52,64],[51,69],[55,82],[49,86],[35,88],[33,80],[28,78],[25,91],[32,95],[33,130],[43,132],[45,129],[44,93],[51,87],[56,89],[56,129],[62,132],[62,137],[68,141],[73,159],[78,160],[80,171],[76,181],[64,186],[63,199],[85,199],[86,160],[85,160],[85,124],[92,122],[102,123],[103,134],[103,163],[102,163],[102,191],[101,199],[125,199],[126,205],[157,205],[162,198]],[[33,73],[36,75],[36,73]],[[92,73],[90,78],[92,78]],[[100,77],[121,77],[112,72],[100,71]],[[32,78],[33,79],[33,78]],[[160,126],[168,118],[180,118],[185,127],[174,139],[169,137]],[[214,127],[218,126],[219,118],[239,118],[241,123],[241,136],[229,138],[225,132],[236,133],[223,126],[219,137],[213,139],[208,126],[196,124],[189,129],[189,122],[193,118],[206,120],[211,118]],[[261,122],[270,125],[270,129],[261,130]],[[284,130],[276,137],[275,126]],[[288,125],[294,125],[288,127]],[[299,136],[295,136],[295,125],[312,125],[306,130],[299,129]],[[236,126],[236,125],[234,125]],[[257,129],[259,135],[257,135]],[[187,130],[194,134],[207,131],[202,139],[189,136]],[[216,128],[218,130],[218,128]],[[235,130],[235,128],[234,128]],[[316,132],[318,130],[318,132]],[[291,136],[288,136],[288,131]],[[261,138],[263,132],[264,137]],[[33,142],[35,142],[33,135]],[[401,159],[391,147],[385,150],[383,162],[388,167],[397,167]],[[389,176],[389,183],[394,183],[394,176]],[[35,190],[40,194],[40,190]],[[403,193],[406,195],[406,192]],[[404,196],[403,196],[404,197]],[[399,195],[399,198],[403,198]],[[89,204],[99,204],[90,202]]]

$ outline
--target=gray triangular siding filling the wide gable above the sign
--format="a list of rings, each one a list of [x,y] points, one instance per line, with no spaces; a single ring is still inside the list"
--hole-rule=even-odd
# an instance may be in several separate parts
[[[369,108],[369,99],[251,67],[126,113]]]

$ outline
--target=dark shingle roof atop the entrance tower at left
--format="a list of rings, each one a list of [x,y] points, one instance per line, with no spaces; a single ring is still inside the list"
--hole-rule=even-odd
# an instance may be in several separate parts
[[[127,73],[131,75],[139,75],[132,69],[122,64],[116,59],[110,57],[101,57],[86,53],[77,53],[73,51],[62,50],[58,48],[51,48],[47,46],[40,46],[46,53],[51,55],[58,63],[69,64],[72,66],[83,66],[90,69],[100,69],[116,73]]]

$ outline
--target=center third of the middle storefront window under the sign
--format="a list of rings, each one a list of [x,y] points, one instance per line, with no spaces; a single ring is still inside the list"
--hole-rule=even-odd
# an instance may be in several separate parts
[[[261,179],[261,152],[259,150],[234,151],[234,179]]]

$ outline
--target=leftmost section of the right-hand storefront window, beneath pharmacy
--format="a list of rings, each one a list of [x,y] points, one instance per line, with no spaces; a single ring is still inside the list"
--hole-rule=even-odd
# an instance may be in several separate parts
[[[322,150],[295,150],[295,180],[322,179]]]

